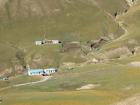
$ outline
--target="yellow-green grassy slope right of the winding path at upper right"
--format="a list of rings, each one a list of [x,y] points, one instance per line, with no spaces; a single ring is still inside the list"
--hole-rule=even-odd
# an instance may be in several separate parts
[[[118,21],[124,22],[124,27],[128,30],[128,34],[122,37],[120,40],[110,42],[106,44],[103,49],[112,49],[116,47],[120,47],[123,45],[128,45],[128,41],[130,40],[136,40],[137,45],[139,45],[139,26],[140,22],[138,21],[139,16],[139,10],[140,10],[140,2],[137,2],[137,5],[133,6],[129,9],[129,11],[124,14],[123,16],[120,16]],[[136,45],[134,45],[135,47]]]

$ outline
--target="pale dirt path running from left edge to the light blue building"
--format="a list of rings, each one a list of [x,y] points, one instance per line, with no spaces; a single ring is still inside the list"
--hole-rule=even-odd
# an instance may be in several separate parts
[[[42,82],[45,82],[45,81],[47,81],[47,80],[49,80],[51,78],[52,78],[52,76],[47,76],[47,77],[44,77],[43,79],[41,79],[39,81],[28,82],[28,83],[23,83],[23,84],[16,84],[16,85],[0,88],[0,91],[6,90],[6,89],[10,89],[10,88],[13,88],[13,87],[20,87],[20,86],[25,86],[25,85],[33,85],[33,84],[42,83]]]

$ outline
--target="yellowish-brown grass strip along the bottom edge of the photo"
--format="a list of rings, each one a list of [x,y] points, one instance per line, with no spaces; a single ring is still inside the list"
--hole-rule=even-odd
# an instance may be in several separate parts
[[[2,105],[109,105],[112,101],[119,99],[118,95],[122,95],[121,93],[107,93],[106,91],[31,92],[21,94],[9,94],[8,97],[4,97],[5,101]]]

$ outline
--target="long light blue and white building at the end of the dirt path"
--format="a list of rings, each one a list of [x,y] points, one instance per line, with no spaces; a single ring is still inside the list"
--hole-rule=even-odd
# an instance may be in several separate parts
[[[29,76],[35,76],[35,75],[51,75],[53,73],[57,72],[56,68],[48,68],[48,69],[29,69],[28,75]]]

